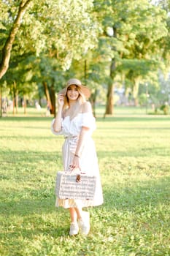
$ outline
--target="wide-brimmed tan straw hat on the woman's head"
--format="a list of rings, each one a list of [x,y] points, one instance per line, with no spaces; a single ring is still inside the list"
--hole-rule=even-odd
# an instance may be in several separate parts
[[[82,92],[82,94],[85,95],[85,97],[88,99],[90,97],[90,89],[88,89],[88,87],[86,86],[82,86],[82,83],[80,80],[76,79],[76,78],[71,78],[67,81],[66,83],[66,87],[64,89],[62,89],[61,91],[58,92],[58,94],[63,94],[64,96],[66,96],[66,91],[68,89],[69,86],[78,86],[80,87],[80,91]]]

